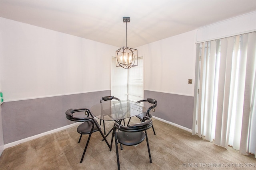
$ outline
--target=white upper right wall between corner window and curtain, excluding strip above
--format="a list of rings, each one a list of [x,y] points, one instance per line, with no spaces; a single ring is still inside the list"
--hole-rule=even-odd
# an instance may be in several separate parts
[[[196,31],[138,47],[144,56],[144,89],[194,96]]]

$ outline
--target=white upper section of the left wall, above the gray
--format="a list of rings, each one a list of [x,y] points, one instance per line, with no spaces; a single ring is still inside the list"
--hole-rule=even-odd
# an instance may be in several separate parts
[[[110,90],[117,47],[5,18],[0,23],[5,102]]]

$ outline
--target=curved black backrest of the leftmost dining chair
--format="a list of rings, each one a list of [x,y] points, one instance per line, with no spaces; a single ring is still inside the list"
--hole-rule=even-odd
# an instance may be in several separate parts
[[[81,112],[81,111],[85,111],[85,113],[87,113],[87,117],[74,117],[73,113]],[[91,117],[89,117],[89,115]],[[66,111],[66,117],[68,120],[71,120],[71,121],[87,121],[88,119],[92,118],[93,116],[89,109],[82,108],[82,109],[68,109]]]

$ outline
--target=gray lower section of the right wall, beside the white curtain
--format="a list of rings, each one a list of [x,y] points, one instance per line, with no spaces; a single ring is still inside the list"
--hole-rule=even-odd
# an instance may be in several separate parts
[[[153,116],[192,129],[194,97],[144,90],[144,98],[157,100]]]

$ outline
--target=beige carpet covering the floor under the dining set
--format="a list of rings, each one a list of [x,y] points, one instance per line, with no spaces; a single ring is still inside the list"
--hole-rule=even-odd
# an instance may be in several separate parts
[[[134,117],[132,122],[139,120]],[[105,123],[107,130],[112,128],[113,121]],[[152,163],[149,162],[145,140],[136,147],[124,146],[119,150],[121,170],[255,169],[253,155],[244,156],[232,148],[218,147],[155,119],[153,125],[156,135],[152,129],[148,130]],[[106,143],[101,141],[99,132],[92,134],[80,163],[88,135],[83,135],[78,143],[79,136],[76,127],[72,127],[8,148],[0,157],[0,170],[117,169],[115,145],[110,152]],[[107,139],[110,143],[111,136]]]

